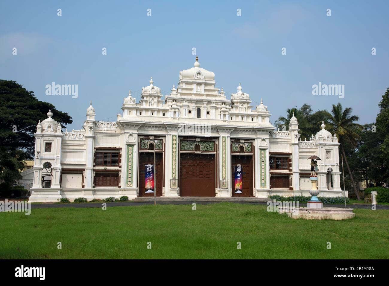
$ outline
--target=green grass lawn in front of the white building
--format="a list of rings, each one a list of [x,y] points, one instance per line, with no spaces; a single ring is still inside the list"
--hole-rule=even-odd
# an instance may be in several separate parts
[[[0,258],[388,259],[389,211],[354,212],[344,221],[293,220],[225,202],[0,213]]]

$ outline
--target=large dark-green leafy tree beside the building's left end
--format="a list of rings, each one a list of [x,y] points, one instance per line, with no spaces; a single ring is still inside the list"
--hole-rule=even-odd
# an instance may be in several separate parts
[[[2,188],[11,187],[20,178],[23,160],[32,159],[35,152],[35,133],[39,120],[47,118],[51,110],[53,119],[64,124],[73,122],[68,113],[56,110],[51,103],[39,101],[13,80],[0,80],[0,180]]]

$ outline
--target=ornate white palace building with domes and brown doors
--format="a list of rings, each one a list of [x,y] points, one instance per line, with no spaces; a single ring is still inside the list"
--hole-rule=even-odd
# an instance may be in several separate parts
[[[262,99],[253,109],[240,84],[226,98],[198,59],[180,72],[169,95],[153,83],[142,88],[138,103],[131,92],[124,98],[116,122],[96,121],[91,102],[81,130],[63,132],[49,111],[34,134],[30,201],[154,196],[145,189],[145,165],[154,164],[154,152],[157,196],[309,196],[312,155],[321,158],[320,195],[343,196],[338,139],[324,124],[309,141],[300,140],[294,116],[289,130],[275,130]],[[234,184],[238,164],[240,193]]]

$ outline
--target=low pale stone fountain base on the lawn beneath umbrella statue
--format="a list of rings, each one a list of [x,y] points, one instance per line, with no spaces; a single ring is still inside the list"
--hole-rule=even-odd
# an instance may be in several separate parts
[[[349,218],[353,218],[355,216],[355,213],[352,211],[353,209],[348,208],[309,208],[307,206],[307,208],[280,207],[279,213],[287,213],[290,218],[294,219],[303,218],[305,220],[348,220]]]

